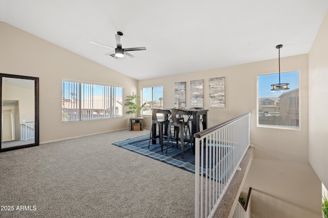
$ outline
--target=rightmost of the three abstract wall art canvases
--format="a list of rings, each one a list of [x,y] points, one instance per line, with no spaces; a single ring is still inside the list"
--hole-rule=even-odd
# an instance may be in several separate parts
[[[224,77],[210,78],[210,107],[225,107]]]

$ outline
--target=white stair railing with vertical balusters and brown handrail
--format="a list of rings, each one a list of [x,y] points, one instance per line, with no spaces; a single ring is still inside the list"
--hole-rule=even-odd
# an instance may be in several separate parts
[[[195,134],[195,217],[212,217],[250,145],[247,113]],[[198,157],[198,158],[197,158]]]

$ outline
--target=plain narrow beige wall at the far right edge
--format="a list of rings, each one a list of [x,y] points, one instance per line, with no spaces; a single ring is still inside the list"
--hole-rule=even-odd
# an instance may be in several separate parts
[[[309,53],[309,161],[328,187],[328,12]]]

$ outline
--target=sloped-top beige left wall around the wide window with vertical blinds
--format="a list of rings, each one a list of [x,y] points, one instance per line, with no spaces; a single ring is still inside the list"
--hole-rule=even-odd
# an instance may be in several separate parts
[[[127,128],[124,118],[61,122],[63,78],[124,86],[137,91],[137,81],[0,22],[0,72],[39,77],[40,143]]]

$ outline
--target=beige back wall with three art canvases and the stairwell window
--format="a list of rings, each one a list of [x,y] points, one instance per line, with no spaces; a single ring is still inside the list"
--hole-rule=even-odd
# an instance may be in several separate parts
[[[288,49],[288,46],[285,46]],[[251,112],[251,142],[254,160],[245,190],[255,190],[254,217],[320,217],[320,180],[308,161],[308,55],[281,58],[281,71],[300,71],[300,130],[256,126],[257,75],[276,73],[278,60],[267,60],[227,68],[142,80],[139,88],[163,85],[163,106],[174,107],[174,82],[187,82],[187,105],[190,106],[190,81],[204,80],[204,107],[209,109],[209,126]],[[209,108],[209,78],[226,79],[226,108]],[[273,81],[275,83],[276,81]],[[284,81],[288,82],[288,81]],[[151,120],[146,120],[150,126]],[[263,199],[274,199],[271,202]],[[287,204],[288,203],[288,204]],[[272,211],[271,216],[260,211]],[[304,212],[308,211],[308,212]],[[285,216],[288,214],[288,216]]]

